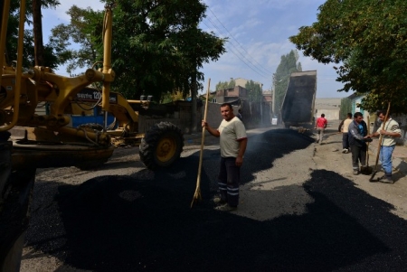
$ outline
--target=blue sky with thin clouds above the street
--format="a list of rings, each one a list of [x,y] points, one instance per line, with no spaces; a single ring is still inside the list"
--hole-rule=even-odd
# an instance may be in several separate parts
[[[218,61],[205,63],[204,91],[211,79],[210,89],[220,81],[242,78],[263,84],[263,90],[272,88],[272,74],[279,66],[281,56],[295,50],[289,36],[296,35],[301,26],[317,22],[318,6],[323,0],[201,0],[208,6],[200,24],[204,31],[219,37],[228,37],[226,53]],[[103,10],[98,0],[63,0],[56,9],[43,10],[43,39],[47,42],[50,30],[59,23],[69,23],[66,11],[71,5],[90,6]],[[114,12],[113,12],[114,16]],[[113,30],[114,39],[114,30]],[[333,64],[322,64],[298,52],[302,70],[317,70],[317,98],[345,98],[346,92],[337,92],[343,83],[336,81]],[[61,67],[57,72],[68,75]]]

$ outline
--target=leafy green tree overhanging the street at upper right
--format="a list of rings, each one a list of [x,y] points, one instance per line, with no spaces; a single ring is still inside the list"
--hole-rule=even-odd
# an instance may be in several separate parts
[[[407,108],[407,2],[328,0],[317,23],[303,26],[289,40],[304,55],[336,63],[339,91],[365,95],[361,108],[374,111],[392,102],[393,112]]]

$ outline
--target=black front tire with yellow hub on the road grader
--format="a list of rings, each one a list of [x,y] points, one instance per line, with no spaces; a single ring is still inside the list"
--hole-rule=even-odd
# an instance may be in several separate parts
[[[151,127],[139,146],[139,155],[148,169],[168,167],[183,152],[184,136],[181,130],[169,122]]]

